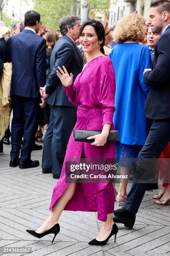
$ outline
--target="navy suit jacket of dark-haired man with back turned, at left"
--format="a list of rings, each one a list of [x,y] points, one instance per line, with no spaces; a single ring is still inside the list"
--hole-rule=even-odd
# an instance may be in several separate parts
[[[7,41],[7,60],[12,62],[11,95],[39,98],[46,79],[46,41],[28,29]]]

